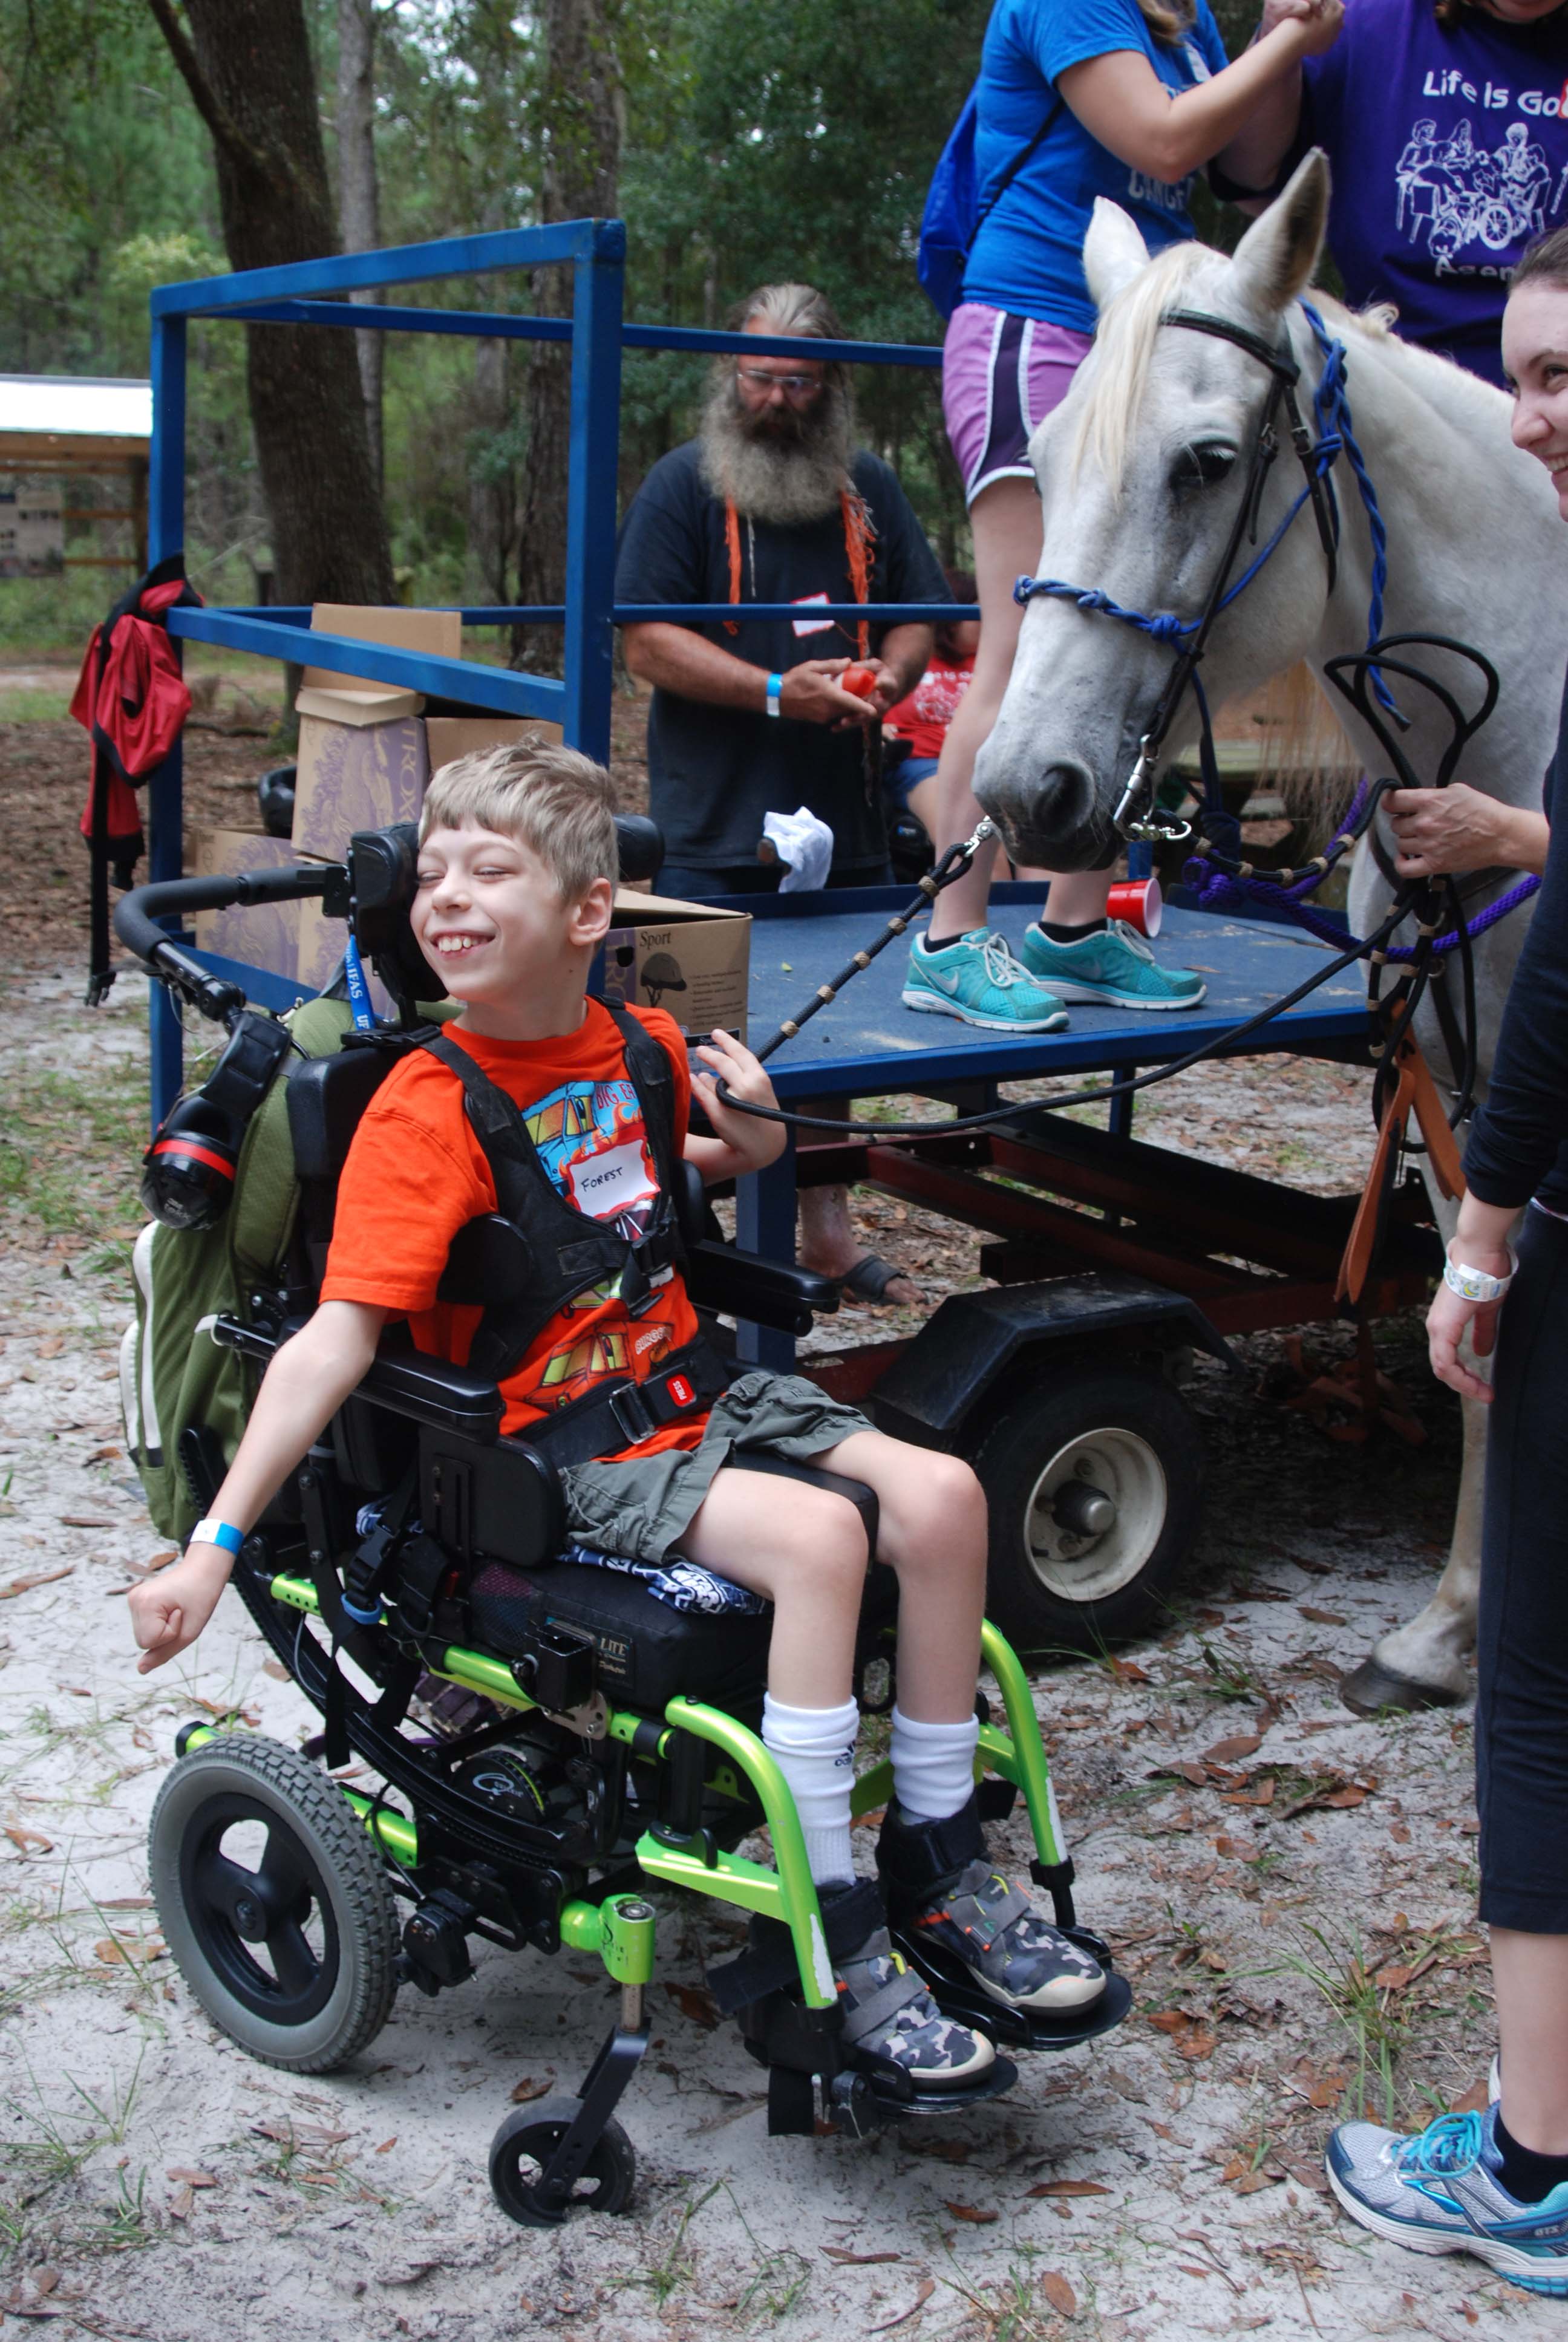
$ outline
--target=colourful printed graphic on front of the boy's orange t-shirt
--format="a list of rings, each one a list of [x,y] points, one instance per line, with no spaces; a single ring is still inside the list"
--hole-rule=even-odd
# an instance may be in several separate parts
[[[523,1122],[567,1204],[591,1220],[607,1220],[628,1241],[647,1230],[659,1178],[630,1082],[563,1082],[525,1108]],[[534,1361],[537,1384],[527,1393],[534,1405],[565,1408],[609,1375],[642,1375],[673,1344],[668,1319],[630,1319],[614,1309],[616,1300],[619,1279],[567,1302],[560,1312],[567,1323],[588,1312],[607,1312],[609,1321],[572,1333]]]

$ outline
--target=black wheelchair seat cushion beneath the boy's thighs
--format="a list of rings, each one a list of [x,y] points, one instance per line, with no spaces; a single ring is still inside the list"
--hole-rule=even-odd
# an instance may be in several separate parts
[[[473,1642],[497,1658],[523,1658],[539,1628],[586,1635],[598,1651],[598,1684],[612,1707],[663,1712],[673,1698],[762,1705],[771,1609],[680,1611],[638,1579],[581,1562],[551,1562],[537,1576],[485,1562],[469,1588]]]

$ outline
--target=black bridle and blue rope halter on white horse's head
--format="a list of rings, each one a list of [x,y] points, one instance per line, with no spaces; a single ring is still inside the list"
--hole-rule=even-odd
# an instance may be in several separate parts
[[[1195,618],[1177,618],[1170,611],[1148,616],[1144,611],[1123,609],[1106,593],[1095,586],[1069,586],[1062,578],[1020,578],[1013,588],[1013,600],[1027,607],[1038,595],[1050,595],[1059,602],[1076,602],[1078,609],[1099,611],[1106,618],[1118,618],[1123,625],[1132,625],[1155,642],[1167,642],[1172,646],[1174,660],[1165,677],[1165,689],[1155,703],[1148,731],[1139,740],[1137,761],[1127,775],[1127,785],[1116,803],[1113,822],[1123,838],[1158,838],[1179,841],[1191,836],[1188,822],[1177,822],[1163,817],[1153,806],[1155,789],[1155,766],[1165,738],[1177,719],[1177,710],[1191,684],[1198,700],[1200,717],[1200,742],[1198,756],[1202,766],[1205,796],[1209,806],[1219,806],[1219,766],[1214,759],[1214,726],[1209,721],[1209,703],[1198,674],[1198,665],[1209,642],[1209,630],[1219,618],[1221,609],[1228,609],[1240,593],[1252,586],[1254,576],[1266,567],[1270,555],[1289,534],[1296,515],[1305,504],[1313,506],[1313,520],[1317,522],[1317,541],[1322,546],[1324,564],[1329,571],[1327,590],[1334,593],[1338,583],[1338,499],[1334,494],[1331,468],[1336,457],[1343,452],[1355,471],[1357,487],[1362,492],[1362,504],[1366,508],[1366,522],[1371,527],[1373,567],[1371,567],[1371,600],[1369,600],[1369,644],[1378,639],[1383,628],[1383,586],[1388,578],[1388,534],[1383,527],[1383,515],[1378,511],[1378,499],[1362,461],[1362,450],[1355,443],[1355,431],[1350,426],[1350,403],[1345,398],[1345,344],[1329,337],[1324,321],[1310,302],[1301,302],[1301,309],[1313,328],[1313,337],[1324,356],[1324,368],[1313,391],[1313,424],[1315,433],[1308,431],[1301,400],[1296,398],[1296,386],[1301,382],[1301,365],[1289,347],[1289,335],[1277,342],[1268,342],[1261,333],[1252,333],[1249,326],[1238,326],[1228,316],[1212,316],[1207,309],[1167,309],[1160,319],[1163,326],[1181,326],[1188,333],[1207,333],[1221,342],[1233,342],[1238,349],[1256,358],[1259,365],[1268,368],[1270,391],[1259,417],[1259,429],[1252,440],[1252,461],[1247,466],[1247,485],[1230,522],[1230,534],[1226,539],[1226,550],[1209,583],[1202,611]],[[1273,532],[1268,543],[1256,553],[1242,574],[1233,581],[1233,569],[1242,555],[1242,543],[1256,546],[1259,541],[1259,508],[1263,504],[1263,489],[1268,485],[1268,473],[1280,454],[1277,417],[1284,408],[1284,419],[1289,426],[1291,447],[1303,471],[1301,494],[1294,499],[1280,527]],[[1373,691],[1383,707],[1395,714],[1395,703],[1388,696],[1380,677],[1373,670]],[[1399,719],[1404,721],[1404,719]]]

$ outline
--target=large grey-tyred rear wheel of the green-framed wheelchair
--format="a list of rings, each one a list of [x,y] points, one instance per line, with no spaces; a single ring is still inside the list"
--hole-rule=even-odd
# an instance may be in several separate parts
[[[391,2014],[398,1923],[352,1806],[277,1740],[223,1733],[152,1808],[157,1916],[185,1984],[267,2066],[330,2073]]]

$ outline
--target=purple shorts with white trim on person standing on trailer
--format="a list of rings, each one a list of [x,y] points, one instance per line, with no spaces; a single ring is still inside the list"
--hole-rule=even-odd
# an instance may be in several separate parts
[[[961,302],[942,344],[942,415],[973,504],[991,480],[1031,480],[1029,433],[1066,398],[1090,335]]]

